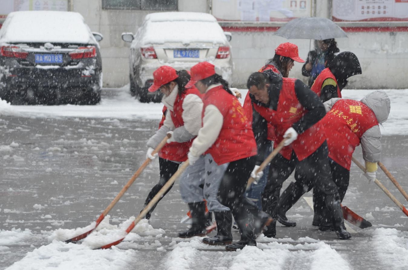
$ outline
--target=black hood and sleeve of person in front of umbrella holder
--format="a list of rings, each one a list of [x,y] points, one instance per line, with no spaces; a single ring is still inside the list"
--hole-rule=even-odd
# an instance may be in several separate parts
[[[358,61],[357,56],[350,51],[344,51],[336,55],[336,57],[333,58],[333,61],[330,62],[328,68],[336,77],[340,90],[346,86],[349,77],[361,74],[360,62]],[[337,86],[324,86],[320,92],[320,99],[322,102],[326,102],[333,97],[338,97]]]

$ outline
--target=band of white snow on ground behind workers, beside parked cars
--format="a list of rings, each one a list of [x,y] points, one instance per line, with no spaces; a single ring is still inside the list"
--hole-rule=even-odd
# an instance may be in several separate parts
[[[248,90],[240,89],[243,98]],[[368,93],[376,90],[341,91],[344,98],[361,100]],[[383,135],[408,135],[408,89],[385,89],[391,100],[391,111],[388,120],[381,128]],[[118,96],[114,99],[102,99],[95,106],[59,105],[59,106],[11,106],[0,100],[0,115],[18,117],[86,117],[113,119],[160,119],[162,117],[161,103],[140,103],[129,95],[129,85],[117,89]]]

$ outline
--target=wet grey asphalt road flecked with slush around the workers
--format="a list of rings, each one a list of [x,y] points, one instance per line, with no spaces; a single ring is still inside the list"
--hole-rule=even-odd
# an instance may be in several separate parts
[[[115,90],[104,89],[102,98],[115,98]],[[145,142],[157,129],[158,122],[1,116],[0,145],[12,147],[0,147],[0,229],[29,228],[40,236],[42,231],[84,227],[95,221],[144,161]],[[408,137],[388,136],[382,141],[382,162],[408,190]],[[363,162],[360,148],[355,157]],[[404,197],[380,169],[377,178],[406,204]],[[137,215],[157,179],[156,160],[111,210],[111,218],[121,222]],[[293,177],[286,181],[284,187],[291,179]],[[311,196],[311,193],[304,195]],[[351,168],[350,186],[343,204],[367,217],[373,228],[390,227],[407,231],[407,217],[375,184],[368,185],[355,165]],[[157,206],[151,225],[163,228],[167,236],[175,237],[177,231],[185,228],[180,219],[186,210],[176,184]],[[326,243],[338,243],[335,244],[336,250],[346,254],[355,269],[367,266],[381,269],[375,253],[365,246],[372,235],[372,228],[361,230],[351,226],[356,231],[353,238],[337,241],[333,232],[319,232],[311,226],[313,211],[304,199],[288,212],[288,217],[295,219],[298,226],[278,227],[277,238],[308,236]],[[237,232],[234,232],[234,238],[238,238]],[[0,269],[7,268],[27,252],[46,243],[47,239],[38,237],[28,243],[9,246],[9,250],[0,252]],[[162,244],[165,246],[165,241]],[[146,269],[159,266],[154,257],[154,251],[146,252],[149,262]],[[299,266],[301,264],[293,262],[287,269]]]

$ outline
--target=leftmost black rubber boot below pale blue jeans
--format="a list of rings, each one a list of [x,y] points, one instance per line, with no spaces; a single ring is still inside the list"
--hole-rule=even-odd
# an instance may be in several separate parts
[[[191,228],[185,232],[180,232],[180,238],[190,238],[193,236],[206,235],[205,202],[188,203],[191,212]]]

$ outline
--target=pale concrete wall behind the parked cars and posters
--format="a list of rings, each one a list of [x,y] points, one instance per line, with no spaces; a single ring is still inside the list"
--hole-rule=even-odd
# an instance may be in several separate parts
[[[208,12],[208,0],[179,0],[179,11]],[[330,18],[330,3],[315,0],[316,16]],[[144,16],[155,11],[102,10],[101,0],[71,0],[71,10],[81,13],[92,31],[104,35],[100,42],[104,75],[104,86],[118,87],[129,83],[129,43],[121,39],[122,32],[133,32],[140,26]],[[276,24],[275,26],[281,26]],[[342,26],[357,26],[343,24]],[[367,24],[379,27],[397,25],[408,27],[408,23]],[[366,26],[367,26],[366,25]],[[273,26],[273,24],[271,24]],[[306,58],[309,40],[286,40],[273,35],[274,32],[233,32],[231,41],[234,73],[231,83],[243,87],[246,79],[272,58],[274,49],[282,42],[293,42],[299,46],[299,55]],[[348,38],[338,38],[341,51],[352,51],[360,60],[363,74],[350,78],[348,88],[381,89],[408,88],[405,80],[408,69],[408,32],[347,32]],[[313,48],[313,44],[312,44]],[[290,77],[306,77],[301,73],[302,64],[295,63]]]

